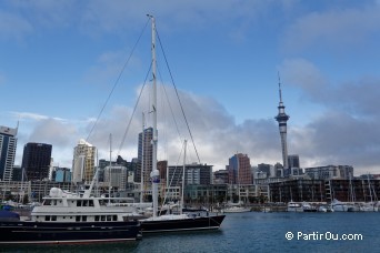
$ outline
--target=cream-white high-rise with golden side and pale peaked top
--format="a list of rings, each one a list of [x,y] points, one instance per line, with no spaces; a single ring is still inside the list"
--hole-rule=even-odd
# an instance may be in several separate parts
[[[84,141],[79,140],[73,151],[72,160],[72,182],[90,183],[94,175],[97,148]]]

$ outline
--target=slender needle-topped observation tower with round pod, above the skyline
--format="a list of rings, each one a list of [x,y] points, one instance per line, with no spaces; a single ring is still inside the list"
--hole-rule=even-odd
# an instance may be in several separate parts
[[[281,94],[281,81],[279,74],[279,114],[274,118],[277,122],[279,122],[280,135],[281,135],[281,150],[282,150],[282,164],[284,169],[289,168],[288,164],[288,144],[287,144],[287,121],[289,120],[289,115],[284,112],[284,105],[282,103],[282,94]]]

